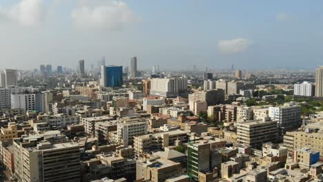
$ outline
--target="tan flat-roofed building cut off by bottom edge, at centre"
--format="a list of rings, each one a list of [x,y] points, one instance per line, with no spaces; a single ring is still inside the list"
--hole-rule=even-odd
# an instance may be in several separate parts
[[[137,161],[136,180],[163,182],[166,179],[177,176],[182,170],[181,163],[176,163],[168,159],[150,158]]]

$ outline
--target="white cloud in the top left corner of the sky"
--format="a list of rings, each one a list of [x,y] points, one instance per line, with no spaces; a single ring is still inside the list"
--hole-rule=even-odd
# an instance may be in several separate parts
[[[0,9],[0,16],[17,21],[24,26],[41,23],[45,15],[44,0],[21,0],[10,8]]]

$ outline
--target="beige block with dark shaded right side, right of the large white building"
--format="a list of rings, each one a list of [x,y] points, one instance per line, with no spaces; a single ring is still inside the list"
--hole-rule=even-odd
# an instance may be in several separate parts
[[[205,101],[208,106],[224,103],[224,90],[195,90],[193,94],[188,94],[188,102],[192,101]]]

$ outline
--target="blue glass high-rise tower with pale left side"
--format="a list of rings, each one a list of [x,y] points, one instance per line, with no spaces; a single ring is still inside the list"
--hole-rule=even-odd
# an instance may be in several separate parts
[[[121,87],[123,82],[122,66],[101,66],[101,85],[104,87]]]

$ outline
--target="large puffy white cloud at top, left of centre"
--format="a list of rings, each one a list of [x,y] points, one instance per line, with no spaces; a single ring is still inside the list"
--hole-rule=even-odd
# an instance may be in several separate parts
[[[71,13],[72,20],[79,28],[119,30],[126,24],[137,21],[133,11],[122,1],[110,1],[100,6],[80,4]]]

